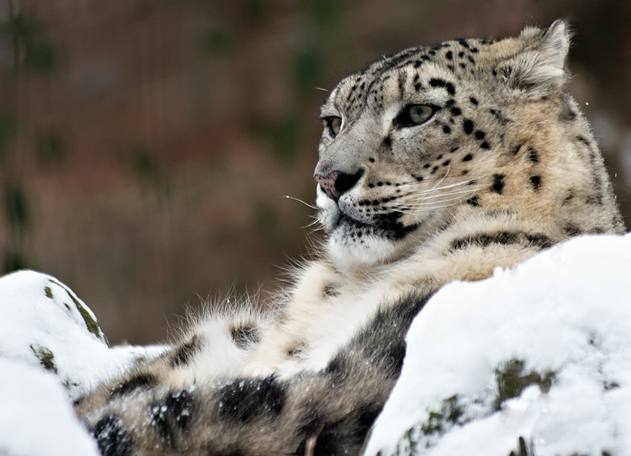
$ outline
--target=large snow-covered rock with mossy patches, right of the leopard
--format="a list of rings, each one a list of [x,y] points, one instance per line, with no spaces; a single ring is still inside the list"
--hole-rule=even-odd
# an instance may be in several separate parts
[[[549,389],[498,405],[511,361]],[[630,235],[582,236],[442,288],[409,329],[363,454],[519,455],[520,437],[536,456],[631,454]]]

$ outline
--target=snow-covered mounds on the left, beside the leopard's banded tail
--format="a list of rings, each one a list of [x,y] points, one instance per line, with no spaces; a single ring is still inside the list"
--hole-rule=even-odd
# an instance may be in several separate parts
[[[161,351],[110,349],[92,311],[51,276],[1,277],[0,455],[97,455],[72,400]]]

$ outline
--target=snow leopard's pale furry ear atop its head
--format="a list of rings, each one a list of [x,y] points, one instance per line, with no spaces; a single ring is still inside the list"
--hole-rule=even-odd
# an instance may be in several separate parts
[[[555,20],[548,29],[527,27],[518,40],[523,51],[502,62],[498,74],[529,98],[541,98],[558,91],[566,81],[564,70],[569,50],[569,31],[563,20]]]

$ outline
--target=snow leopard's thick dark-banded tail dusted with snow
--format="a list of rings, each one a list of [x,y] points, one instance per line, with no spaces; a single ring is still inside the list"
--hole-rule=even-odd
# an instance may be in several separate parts
[[[384,306],[318,373],[125,391],[88,427],[104,456],[357,455],[427,299]]]

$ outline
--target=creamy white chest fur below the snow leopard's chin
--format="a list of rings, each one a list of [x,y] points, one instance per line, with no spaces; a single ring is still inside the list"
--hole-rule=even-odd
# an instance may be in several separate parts
[[[396,271],[382,269],[382,274],[372,271],[369,277],[344,276],[325,263],[311,264],[278,323],[264,334],[245,374],[285,378],[325,368],[381,306],[409,293],[409,287],[393,281]]]

